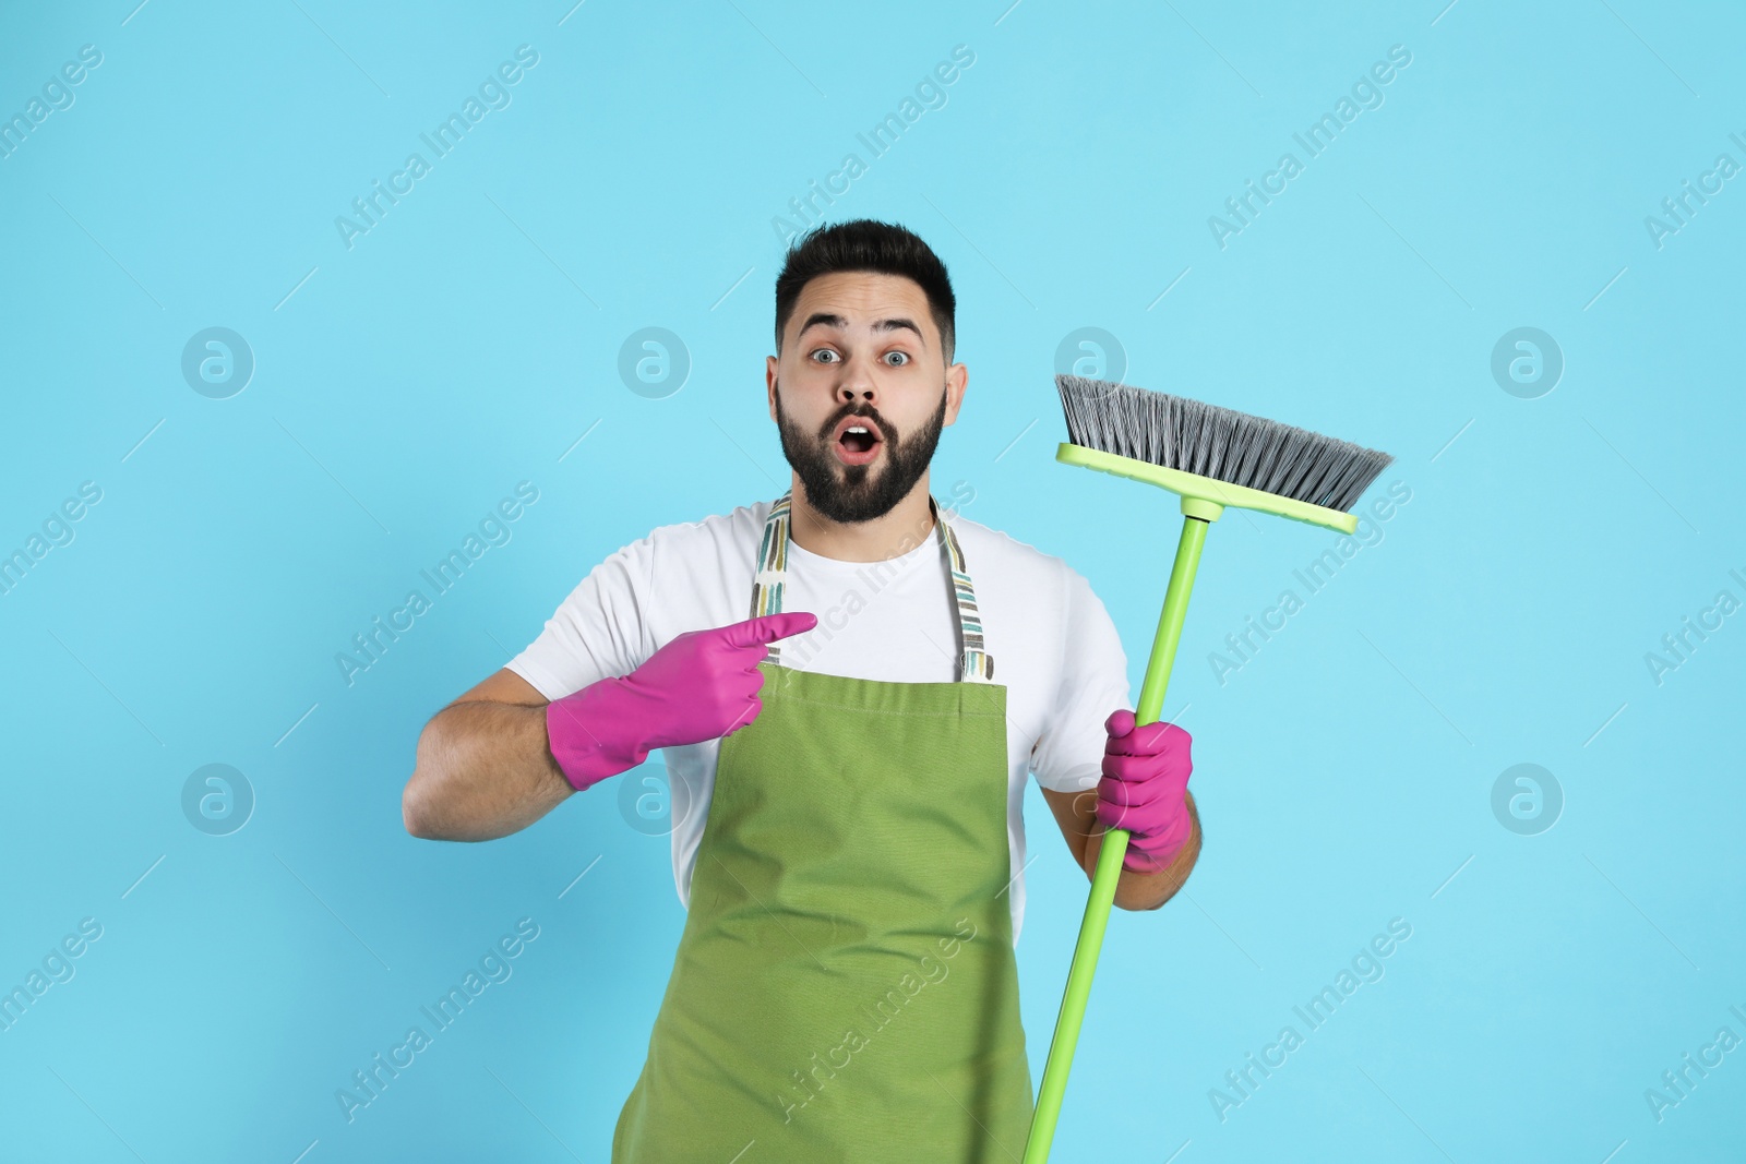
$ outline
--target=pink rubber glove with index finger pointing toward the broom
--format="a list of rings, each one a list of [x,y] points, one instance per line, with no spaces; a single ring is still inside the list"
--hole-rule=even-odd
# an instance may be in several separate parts
[[[581,791],[658,747],[732,735],[763,710],[758,663],[768,644],[817,625],[815,614],[789,611],[677,635],[629,675],[546,703],[552,759]]]

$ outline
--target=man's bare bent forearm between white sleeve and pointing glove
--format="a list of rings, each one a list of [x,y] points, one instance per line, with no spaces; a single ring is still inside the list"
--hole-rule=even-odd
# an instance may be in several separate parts
[[[545,707],[463,702],[424,724],[402,815],[414,836],[489,841],[526,829],[574,791],[546,745]]]

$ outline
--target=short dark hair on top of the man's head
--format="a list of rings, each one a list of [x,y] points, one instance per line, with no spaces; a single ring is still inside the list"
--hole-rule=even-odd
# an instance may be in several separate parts
[[[920,284],[927,295],[927,309],[939,330],[941,354],[952,363],[957,346],[957,297],[946,265],[918,236],[889,222],[852,218],[833,225],[817,225],[800,236],[787,250],[782,272],[775,277],[775,349],[782,351],[782,330],[787,328],[801,288],[819,276],[838,270],[875,270],[903,276]]]

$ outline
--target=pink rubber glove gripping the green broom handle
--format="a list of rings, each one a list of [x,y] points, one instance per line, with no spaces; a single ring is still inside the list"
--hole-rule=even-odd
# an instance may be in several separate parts
[[[1126,829],[1121,867],[1159,873],[1187,845],[1194,822],[1184,794],[1189,787],[1191,736],[1182,728],[1152,722],[1135,728],[1121,709],[1103,722],[1103,778],[1096,785],[1096,818],[1105,829]]]

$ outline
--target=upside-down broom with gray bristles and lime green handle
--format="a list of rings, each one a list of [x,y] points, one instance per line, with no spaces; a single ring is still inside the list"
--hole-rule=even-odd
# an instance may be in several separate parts
[[[1350,534],[1358,527],[1358,518],[1350,513],[1351,506],[1393,457],[1290,424],[1128,384],[1056,375],[1055,387],[1062,394],[1070,438],[1056,448],[1056,461],[1147,482],[1182,496],[1182,537],[1177,541],[1165,609],[1158,618],[1152,656],[1145,665],[1145,682],[1133,714],[1135,726],[1158,722],[1206,527],[1227,506],[1236,506]],[[1096,972],[1126,852],[1126,829],[1103,832],[1023,1164],[1044,1164],[1049,1159],[1055,1122],[1067,1092],[1067,1072],[1072,1068],[1074,1044],[1079,1042],[1079,1024],[1091,995],[1091,976]]]

